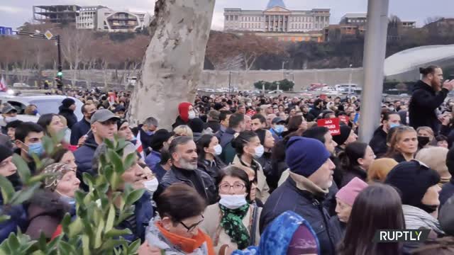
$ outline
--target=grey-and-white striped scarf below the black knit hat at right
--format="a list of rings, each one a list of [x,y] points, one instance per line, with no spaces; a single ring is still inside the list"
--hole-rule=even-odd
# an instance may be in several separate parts
[[[440,223],[432,215],[428,214],[425,210],[411,206],[402,205],[405,217],[405,228],[406,229],[432,229],[437,234],[445,234],[441,230]]]

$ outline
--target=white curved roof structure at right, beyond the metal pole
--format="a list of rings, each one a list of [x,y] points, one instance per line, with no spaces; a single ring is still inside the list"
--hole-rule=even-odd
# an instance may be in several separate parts
[[[384,75],[410,72],[433,62],[454,58],[454,45],[429,45],[398,52],[384,60]]]

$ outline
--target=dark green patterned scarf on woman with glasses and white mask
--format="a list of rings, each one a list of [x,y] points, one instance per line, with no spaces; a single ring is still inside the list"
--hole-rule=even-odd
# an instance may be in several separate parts
[[[243,225],[243,217],[248,213],[249,204],[245,204],[234,210],[219,205],[222,212],[221,227],[226,231],[238,249],[245,249],[249,244],[249,232]]]

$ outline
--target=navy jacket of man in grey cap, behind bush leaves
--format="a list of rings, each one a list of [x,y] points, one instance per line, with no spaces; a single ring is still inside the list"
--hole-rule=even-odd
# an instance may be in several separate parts
[[[82,174],[85,172],[92,175],[96,174],[92,171],[92,160],[97,147],[98,144],[94,140],[94,135],[90,134],[84,145],[74,152],[74,158],[77,164],[77,178],[79,180],[82,181]],[[88,188],[83,182],[80,183],[80,186],[84,190]]]

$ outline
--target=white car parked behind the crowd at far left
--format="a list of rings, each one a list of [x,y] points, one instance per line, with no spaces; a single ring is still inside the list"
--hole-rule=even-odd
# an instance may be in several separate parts
[[[60,111],[59,107],[62,105],[62,101],[65,98],[72,98],[76,101],[76,110],[74,114],[77,116],[77,120],[82,120],[81,108],[84,105],[82,101],[71,96],[57,96],[57,95],[43,95],[43,94],[26,94],[20,96],[11,96],[8,94],[0,94],[0,103],[9,103],[11,106],[16,108],[18,115],[22,115],[28,105],[35,105],[38,107],[38,114],[43,115],[46,113],[58,114]],[[20,118],[19,118],[20,119]]]

